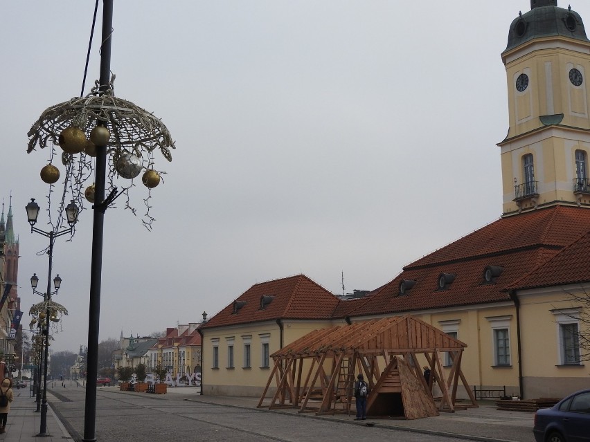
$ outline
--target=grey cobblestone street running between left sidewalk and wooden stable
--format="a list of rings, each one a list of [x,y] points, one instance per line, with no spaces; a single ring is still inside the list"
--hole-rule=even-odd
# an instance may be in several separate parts
[[[51,407],[74,440],[84,430],[84,388],[53,389]],[[119,392],[116,387],[97,392],[96,439],[114,441],[359,441],[368,437],[397,441],[533,441],[532,414],[513,418],[456,413],[449,417],[400,421],[353,416],[317,417],[289,410],[257,409],[256,398],[199,396],[190,389],[169,394]],[[476,409],[480,410],[480,409]],[[477,423],[477,425],[474,424]],[[508,425],[506,425],[508,424]],[[479,425],[479,430],[474,430]],[[478,432],[480,434],[478,434]]]

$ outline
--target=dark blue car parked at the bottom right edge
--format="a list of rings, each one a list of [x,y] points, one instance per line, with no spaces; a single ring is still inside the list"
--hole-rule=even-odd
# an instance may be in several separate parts
[[[590,389],[580,390],[535,413],[537,442],[590,441]]]

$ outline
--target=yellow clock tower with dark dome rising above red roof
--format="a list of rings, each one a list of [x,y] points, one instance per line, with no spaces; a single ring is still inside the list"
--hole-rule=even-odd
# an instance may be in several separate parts
[[[590,41],[582,17],[557,0],[531,0],[510,25],[502,61],[503,216],[555,204],[590,208]]]

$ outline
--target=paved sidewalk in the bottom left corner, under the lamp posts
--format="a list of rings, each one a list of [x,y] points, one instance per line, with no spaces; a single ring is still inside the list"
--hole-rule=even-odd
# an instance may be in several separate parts
[[[29,397],[28,389],[14,389],[13,392],[15,400],[10,403],[6,433],[0,434],[0,442],[73,441],[62,423],[53,414],[51,407],[47,407],[46,434],[48,436],[37,437],[41,429],[41,413],[35,412],[35,398]]]

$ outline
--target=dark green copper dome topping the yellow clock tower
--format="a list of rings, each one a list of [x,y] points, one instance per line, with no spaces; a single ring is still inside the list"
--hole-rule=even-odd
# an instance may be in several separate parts
[[[535,38],[554,36],[589,42],[578,12],[557,7],[557,0],[530,0],[530,11],[519,14],[510,24],[506,50]]]

